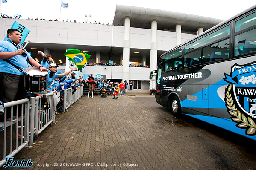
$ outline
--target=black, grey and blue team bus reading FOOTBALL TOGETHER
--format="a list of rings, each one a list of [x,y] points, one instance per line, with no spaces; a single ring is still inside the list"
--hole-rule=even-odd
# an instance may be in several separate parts
[[[155,97],[256,140],[256,6],[161,55]]]

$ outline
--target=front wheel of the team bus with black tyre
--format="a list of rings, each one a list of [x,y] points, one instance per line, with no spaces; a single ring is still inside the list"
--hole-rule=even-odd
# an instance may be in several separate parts
[[[179,117],[181,115],[180,99],[175,93],[170,94],[168,97],[168,108],[170,109],[171,114],[175,117]]]

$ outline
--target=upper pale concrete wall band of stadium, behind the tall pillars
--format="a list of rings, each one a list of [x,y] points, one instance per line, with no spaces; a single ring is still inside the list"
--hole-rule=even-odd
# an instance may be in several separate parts
[[[15,19],[0,18],[0,40],[6,36],[6,31]],[[17,20],[31,32],[27,39],[33,43],[73,44],[89,46],[123,47],[124,27],[98,24],[55,22],[41,20]],[[112,30],[113,29],[113,30]],[[182,42],[195,35],[182,33]],[[131,48],[150,49],[151,29],[130,28]],[[175,47],[176,34],[169,31],[157,31],[157,49],[168,51]]]

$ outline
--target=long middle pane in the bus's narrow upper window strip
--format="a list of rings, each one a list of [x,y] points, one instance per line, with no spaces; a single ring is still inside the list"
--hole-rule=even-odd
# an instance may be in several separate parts
[[[230,35],[230,25],[226,26],[223,29],[220,29],[216,32],[213,32],[212,34],[207,35],[206,37],[203,37],[200,40],[197,40],[191,44],[188,44],[187,46],[185,46],[185,52],[188,52],[192,49],[196,49],[198,47],[204,46],[208,43],[211,43],[215,40],[221,39],[228,35]]]

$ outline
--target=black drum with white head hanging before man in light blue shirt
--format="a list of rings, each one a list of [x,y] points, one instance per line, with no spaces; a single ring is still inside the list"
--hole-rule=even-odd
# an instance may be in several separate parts
[[[47,90],[46,70],[40,71],[37,67],[29,67],[24,70],[24,87],[26,91],[31,93],[41,93]]]

